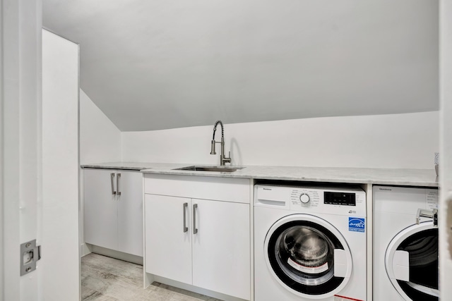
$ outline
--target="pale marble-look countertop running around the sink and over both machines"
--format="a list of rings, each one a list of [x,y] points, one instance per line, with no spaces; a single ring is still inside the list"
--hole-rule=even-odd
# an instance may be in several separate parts
[[[434,168],[349,168],[349,167],[303,167],[303,166],[237,166],[232,173],[216,171],[174,170],[185,166],[206,166],[203,164],[109,162],[85,164],[83,168],[112,168],[139,170],[142,173],[156,173],[181,176],[209,176],[222,178],[252,178],[256,180],[299,180],[327,183],[362,183],[379,185],[407,185],[438,187]]]

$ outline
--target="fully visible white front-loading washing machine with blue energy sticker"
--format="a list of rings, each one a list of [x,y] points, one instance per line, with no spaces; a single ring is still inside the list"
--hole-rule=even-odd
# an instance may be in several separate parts
[[[366,194],[254,186],[256,301],[366,300]]]

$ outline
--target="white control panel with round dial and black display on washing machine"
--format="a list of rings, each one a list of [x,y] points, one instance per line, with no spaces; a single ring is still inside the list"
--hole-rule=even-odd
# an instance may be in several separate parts
[[[366,216],[366,192],[359,187],[256,185],[255,206],[306,213]]]

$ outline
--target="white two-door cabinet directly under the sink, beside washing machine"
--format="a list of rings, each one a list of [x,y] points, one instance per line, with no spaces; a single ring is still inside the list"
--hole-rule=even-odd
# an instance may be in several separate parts
[[[249,181],[146,175],[145,272],[249,300]]]

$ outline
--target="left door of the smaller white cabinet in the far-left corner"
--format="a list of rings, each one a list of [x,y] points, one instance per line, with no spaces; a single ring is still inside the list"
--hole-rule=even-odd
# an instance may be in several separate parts
[[[117,200],[112,194],[112,173],[105,169],[83,171],[85,242],[117,250]]]

